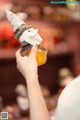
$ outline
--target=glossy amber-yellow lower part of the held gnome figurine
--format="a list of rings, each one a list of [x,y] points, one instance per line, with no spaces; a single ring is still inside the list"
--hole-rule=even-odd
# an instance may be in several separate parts
[[[26,55],[29,56],[31,50],[26,51]],[[47,51],[43,49],[38,49],[36,56],[38,66],[43,65],[47,61]]]

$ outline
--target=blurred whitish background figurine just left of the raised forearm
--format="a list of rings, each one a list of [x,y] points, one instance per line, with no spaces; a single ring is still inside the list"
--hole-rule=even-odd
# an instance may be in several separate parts
[[[20,109],[20,114],[26,115],[29,109],[26,87],[22,84],[19,84],[15,91],[17,93],[17,103]]]

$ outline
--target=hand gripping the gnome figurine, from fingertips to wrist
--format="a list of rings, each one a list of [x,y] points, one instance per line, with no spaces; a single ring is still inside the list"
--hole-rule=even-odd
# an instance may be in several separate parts
[[[16,62],[17,68],[24,76],[24,78],[34,77],[37,74],[37,61],[36,61],[36,54],[37,54],[37,46],[33,46],[30,52],[30,55],[21,56],[21,49],[16,52]]]

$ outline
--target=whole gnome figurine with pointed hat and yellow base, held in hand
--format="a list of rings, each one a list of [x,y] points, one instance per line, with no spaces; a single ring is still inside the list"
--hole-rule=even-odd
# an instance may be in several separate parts
[[[38,45],[37,63],[42,65],[47,60],[47,50],[40,48],[39,45],[42,42],[42,38],[38,34],[38,29],[34,29],[30,25],[26,25],[17,15],[9,10],[6,10],[8,20],[11,22],[15,37],[19,39],[22,45],[22,55],[29,55],[31,48],[34,44]]]

